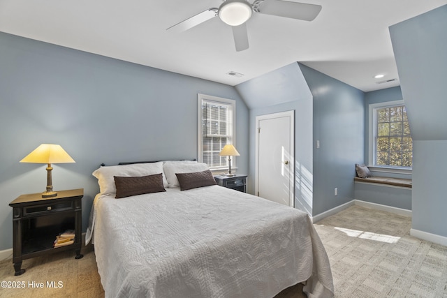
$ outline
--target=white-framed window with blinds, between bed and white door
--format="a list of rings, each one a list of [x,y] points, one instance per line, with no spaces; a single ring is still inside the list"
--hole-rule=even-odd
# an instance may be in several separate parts
[[[235,100],[198,94],[198,161],[212,170],[228,168],[228,156],[219,153],[235,144],[235,112]]]

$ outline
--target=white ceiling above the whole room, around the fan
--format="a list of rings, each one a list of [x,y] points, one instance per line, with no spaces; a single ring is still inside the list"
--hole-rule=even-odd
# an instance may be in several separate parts
[[[447,4],[302,2],[323,6],[314,21],[254,13],[247,22],[250,48],[242,52],[219,17],[182,33],[166,31],[222,0],[0,0],[0,31],[232,86],[299,61],[373,91],[400,84],[376,83],[398,79],[388,27]],[[386,76],[374,79],[378,73]]]

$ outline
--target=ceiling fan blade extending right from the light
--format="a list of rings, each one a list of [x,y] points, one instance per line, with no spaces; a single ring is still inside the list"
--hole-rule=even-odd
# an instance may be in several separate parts
[[[255,2],[256,3],[256,2]],[[320,13],[321,5],[284,0],[264,0],[258,3],[258,13],[292,19],[312,21]]]

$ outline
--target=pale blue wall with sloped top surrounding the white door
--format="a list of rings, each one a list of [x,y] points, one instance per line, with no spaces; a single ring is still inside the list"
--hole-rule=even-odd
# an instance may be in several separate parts
[[[295,208],[312,215],[312,94],[298,63],[236,86],[250,108],[249,193],[255,190],[256,117],[295,112]]]

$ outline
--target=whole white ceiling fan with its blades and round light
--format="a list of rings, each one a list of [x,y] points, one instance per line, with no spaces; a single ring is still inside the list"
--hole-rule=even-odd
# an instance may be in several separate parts
[[[255,0],[253,3],[247,0],[223,0],[219,8],[209,8],[166,30],[185,31],[219,15],[220,19],[233,29],[236,51],[240,52],[249,48],[246,22],[250,19],[252,11],[265,15],[312,21],[320,13],[320,10],[320,5],[285,0]]]

